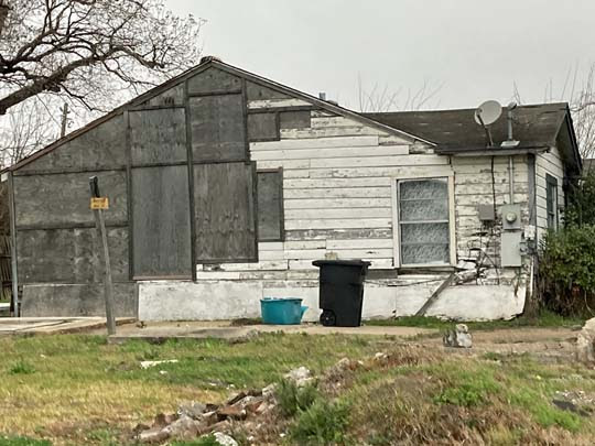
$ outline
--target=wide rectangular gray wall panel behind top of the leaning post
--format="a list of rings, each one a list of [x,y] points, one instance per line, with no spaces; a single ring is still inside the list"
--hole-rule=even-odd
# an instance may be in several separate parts
[[[89,209],[89,176],[94,173],[14,177],[17,226],[95,224]],[[126,172],[98,172],[102,196],[109,197],[106,221],[127,221]]]

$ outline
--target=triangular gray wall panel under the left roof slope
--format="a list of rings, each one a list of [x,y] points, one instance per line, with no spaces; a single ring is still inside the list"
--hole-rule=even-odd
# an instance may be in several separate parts
[[[20,171],[120,167],[126,165],[125,148],[125,123],[122,115],[118,115],[26,164]]]

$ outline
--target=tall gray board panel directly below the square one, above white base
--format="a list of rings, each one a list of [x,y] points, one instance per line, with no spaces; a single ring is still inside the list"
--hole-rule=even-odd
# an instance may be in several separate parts
[[[188,168],[132,170],[134,276],[192,276]]]

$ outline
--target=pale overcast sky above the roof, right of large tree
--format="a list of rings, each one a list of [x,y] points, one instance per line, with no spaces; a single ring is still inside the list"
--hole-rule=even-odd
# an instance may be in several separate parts
[[[204,54],[358,108],[366,90],[440,88],[430,108],[559,99],[595,62],[595,0],[169,0],[207,20]],[[570,76],[566,95],[572,85]],[[581,80],[578,81],[578,84]]]

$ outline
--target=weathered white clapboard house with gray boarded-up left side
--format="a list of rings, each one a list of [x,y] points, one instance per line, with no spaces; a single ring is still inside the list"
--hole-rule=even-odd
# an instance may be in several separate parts
[[[565,104],[360,115],[214,58],[3,172],[21,314],[101,314],[88,178],[106,214],[118,315],[259,315],[313,260],[366,259],[364,317],[511,317],[581,160]]]

